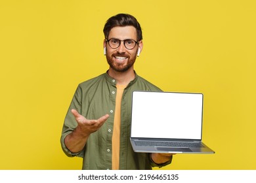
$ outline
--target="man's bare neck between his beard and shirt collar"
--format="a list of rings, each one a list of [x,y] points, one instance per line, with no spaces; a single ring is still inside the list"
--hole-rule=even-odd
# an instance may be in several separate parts
[[[127,86],[129,82],[135,79],[135,72],[132,67],[125,72],[118,72],[110,67],[108,70],[108,75],[116,80],[116,84],[125,86]]]

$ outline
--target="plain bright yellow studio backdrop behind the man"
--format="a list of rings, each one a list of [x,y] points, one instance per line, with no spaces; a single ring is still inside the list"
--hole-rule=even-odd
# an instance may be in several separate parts
[[[256,169],[255,2],[1,0],[0,169],[81,169],[62,152],[62,124],[77,85],[108,69],[102,29],[119,12],[142,26],[140,76],[204,94],[216,154],[177,154],[163,169]]]

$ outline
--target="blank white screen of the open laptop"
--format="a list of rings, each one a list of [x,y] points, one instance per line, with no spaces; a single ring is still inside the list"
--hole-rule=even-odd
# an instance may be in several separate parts
[[[202,139],[202,93],[133,92],[131,137]]]

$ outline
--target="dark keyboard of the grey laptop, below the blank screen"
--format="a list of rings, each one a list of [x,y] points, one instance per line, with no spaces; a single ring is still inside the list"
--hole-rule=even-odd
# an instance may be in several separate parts
[[[203,144],[198,142],[156,142],[156,141],[135,141],[137,146],[163,146],[163,147],[188,147],[202,148]]]

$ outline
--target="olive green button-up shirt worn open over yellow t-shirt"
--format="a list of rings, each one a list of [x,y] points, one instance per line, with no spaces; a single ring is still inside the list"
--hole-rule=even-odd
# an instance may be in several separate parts
[[[114,125],[116,90],[116,80],[104,73],[79,84],[75,91],[64,120],[61,145],[67,156],[83,158],[83,169],[111,169],[112,167],[112,129]],[[160,91],[160,88],[136,75],[135,79],[123,91],[119,169],[152,169],[152,167],[158,165],[152,162],[149,154],[134,152],[130,142],[131,93],[134,90]],[[105,114],[110,115],[98,131],[91,133],[83,150],[76,154],[70,152],[64,144],[66,135],[77,127],[77,122],[72,112],[70,112],[72,108],[87,119],[98,119]],[[171,163],[171,161],[168,163]]]

